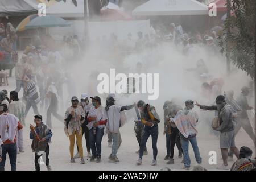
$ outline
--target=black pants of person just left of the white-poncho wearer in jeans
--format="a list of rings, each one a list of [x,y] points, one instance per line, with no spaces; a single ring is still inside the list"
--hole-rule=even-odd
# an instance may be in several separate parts
[[[180,144],[180,131],[177,129],[177,127],[171,127],[172,133],[170,134],[170,152],[171,158],[174,158],[174,147],[175,143],[177,145],[177,148],[179,150],[179,153],[182,152],[181,144]]]

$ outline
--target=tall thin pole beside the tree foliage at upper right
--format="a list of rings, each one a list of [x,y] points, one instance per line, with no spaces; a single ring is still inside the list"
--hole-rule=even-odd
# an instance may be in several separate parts
[[[228,30],[226,32],[226,40],[227,40],[227,47],[226,47],[226,69],[228,76],[230,74],[230,14],[231,14],[231,0],[227,0],[226,4],[226,18],[228,20]]]

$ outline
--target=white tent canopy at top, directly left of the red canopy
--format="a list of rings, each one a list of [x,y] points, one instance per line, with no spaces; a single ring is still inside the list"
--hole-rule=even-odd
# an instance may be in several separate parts
[[[133,10],[134,16],[206,14],[208,14],[208,6],[196,0],[150,0]]]

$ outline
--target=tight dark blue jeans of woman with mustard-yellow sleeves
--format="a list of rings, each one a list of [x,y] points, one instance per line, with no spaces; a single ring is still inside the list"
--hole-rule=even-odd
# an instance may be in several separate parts
[[[146,147],[146,143],[148,138],[152,138],[152,148],[153,148],[153,158],[156,160],[156,156],[158,155],[158,125],[155,123],[153,127],[151,126],[145,126],[144,128],[144,134],[142,137],[142,143],[141,147],[139,147],[139,158],[142,159],[144,148]]]

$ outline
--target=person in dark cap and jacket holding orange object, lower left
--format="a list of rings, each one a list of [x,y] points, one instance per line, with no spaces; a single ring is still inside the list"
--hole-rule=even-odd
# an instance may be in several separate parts
[[[30,139],[32,139],[31,148],[35,152],[35,170],[40,171],[39,160],[42,156],[42,151],[45,152],[43,159],[46,159],[46,167],[48,171],[51,171],[51,166],[49,165],[49,143],[51,143],[52,131],[51,129],[43,123],[42,115],[35,115],[34,122],[36,126],[30,125]]]

